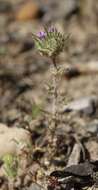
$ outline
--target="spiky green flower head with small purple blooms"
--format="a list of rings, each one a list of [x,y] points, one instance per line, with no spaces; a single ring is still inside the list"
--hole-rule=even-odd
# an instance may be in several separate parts
[[[33,34],[36,49],[49,57],[55,57],[63,51],[67,38],[54,27],[44,28],[38,35]]]

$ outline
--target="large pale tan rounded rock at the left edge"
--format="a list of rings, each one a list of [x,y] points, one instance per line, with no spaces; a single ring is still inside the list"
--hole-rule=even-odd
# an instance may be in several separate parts
[[[17,154],[19,147],[15,142],[31,143],[30,134],[22,128],[8,128],[4,124],[0,124],[0,157],[5,154]]]

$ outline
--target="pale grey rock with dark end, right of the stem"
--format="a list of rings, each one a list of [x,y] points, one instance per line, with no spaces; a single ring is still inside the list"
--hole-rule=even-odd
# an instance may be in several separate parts
[[[98,99],[95,96],[88,96],[79,98],[78,100],[72,101],[70,104],[63,107],[64,112],[77,111],[85,115],[93,115],[96,112]]]

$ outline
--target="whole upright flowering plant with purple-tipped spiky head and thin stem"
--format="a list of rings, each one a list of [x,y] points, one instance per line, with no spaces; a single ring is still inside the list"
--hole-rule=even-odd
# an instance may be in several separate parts
[[[51,142],[53,142],[54,134],[56,128],[58,126],[58,84],[59,84],[59,74],[60,68],[56,65],[56,57],[64,50],[66,42],[68,40],[68,35],[65,36],[64,34],[60,33],[55,27],[45,27],[43,31],[40,31],[37,35],[33,34],[33,40],[35,42],[35,47],[39,51],[41,55],[45,55],[51,58],[54,70],[50,69],[52,74],[52,86],[51,90],[49,90],[49,94],[51,94],[52,98],[52,117],[51,122],[49,124],[50,130],[50,149],[51,149]]]

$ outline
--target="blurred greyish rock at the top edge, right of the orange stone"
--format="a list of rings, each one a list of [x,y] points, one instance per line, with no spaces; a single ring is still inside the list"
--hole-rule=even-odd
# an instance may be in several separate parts
[[[54,20],[64,17],[68,19],[71,17],[78,8],[76,0],[50,0],[44,3],[43,7],[46,9],[44,21]]]

